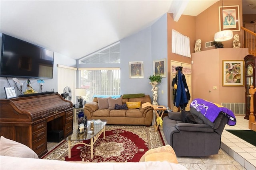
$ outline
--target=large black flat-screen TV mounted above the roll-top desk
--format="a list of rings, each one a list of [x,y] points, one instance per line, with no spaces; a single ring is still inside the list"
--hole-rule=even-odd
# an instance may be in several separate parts
[[[1,77],[52,78],[54,52],[3,34]]]

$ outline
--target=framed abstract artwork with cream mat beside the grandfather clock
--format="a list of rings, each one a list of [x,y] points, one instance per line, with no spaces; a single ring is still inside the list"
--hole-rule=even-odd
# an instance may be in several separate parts
[[[222,61],[222,86],[244,86],[244,61]]]

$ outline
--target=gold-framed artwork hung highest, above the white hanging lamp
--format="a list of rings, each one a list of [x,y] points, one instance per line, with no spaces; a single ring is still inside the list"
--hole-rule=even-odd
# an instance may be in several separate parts
[[[239,5],[219,6],[219,25],[220,31],[240,31]]]

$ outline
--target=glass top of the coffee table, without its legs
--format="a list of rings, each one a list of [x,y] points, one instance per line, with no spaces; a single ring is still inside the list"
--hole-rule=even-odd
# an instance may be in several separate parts
[[[88,133],[90,131],[90,122],[94,121],[94,131],[93,133]],[[78,125],[76,129],[73,129],[73,133],[69,135],[66,140],[69,141],[83,141],[88,140],[94,137],[96,134],[98,134],[106,125],[106,120],[88,120],[88,125],[86,128],[84,128],[84,133],[78,133]]]

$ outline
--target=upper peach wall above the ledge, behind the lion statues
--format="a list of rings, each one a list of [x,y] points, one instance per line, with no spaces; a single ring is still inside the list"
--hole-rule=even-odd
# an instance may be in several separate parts
[[[224,6],[233,6],[233,5],[239,5],[239,14],[240,14],[240,27],[243,26],[243,20],[242,20],[242,0],[224,0]],[[196,39],[202,40],[202,47],[201,50],[210,50],[215,49],[215,47],[208,47],[205,48],[205,43],[209,41],[214,41],[214,34],[219,29],[219,6],[222,6],[222,1],[218,1],[206,10],[204,10],[201,14],[196,16]],[[243,33],[242,30],[240,31],[233,31],[233,34],[238,34],[240,36],[240,39],[242,39]],[[230,39],[228,41],[222,42],[224,45],[224,48],[232,48],[232,42],[233,39]]]

